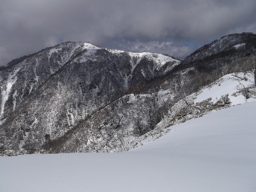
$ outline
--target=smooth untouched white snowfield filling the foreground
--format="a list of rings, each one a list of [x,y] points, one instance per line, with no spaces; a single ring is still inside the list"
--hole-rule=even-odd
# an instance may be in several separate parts
[[[256,102],[171,127],[126,153],[0,158],[0,191],[256,191]]]

